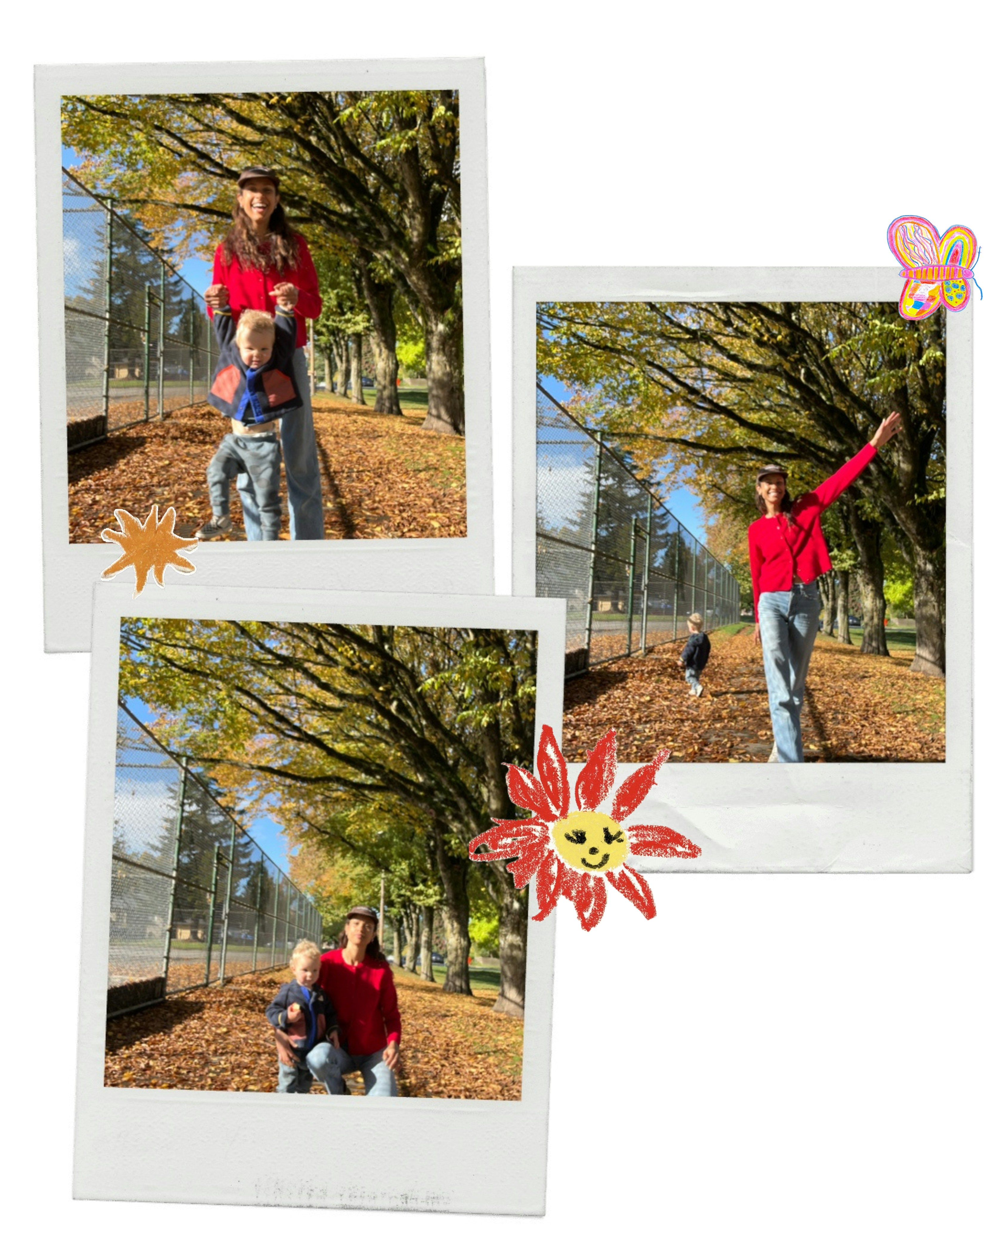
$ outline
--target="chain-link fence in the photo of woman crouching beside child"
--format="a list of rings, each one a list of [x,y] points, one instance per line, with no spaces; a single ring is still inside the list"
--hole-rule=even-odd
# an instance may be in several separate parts
[[[108,1013],[282,966],[321,915],[194,773],[120,705]]]

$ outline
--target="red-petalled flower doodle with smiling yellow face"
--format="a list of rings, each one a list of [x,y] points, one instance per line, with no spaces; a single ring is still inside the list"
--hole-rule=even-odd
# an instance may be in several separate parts
[[[643,875],[624,865],[628,856],[697,857],[700,849],[670,826],[623,826],[653,787],[657,771],[667,760],[658,752],[622,783],[602,813],[599,806],[616,782],[616,731],[599,739],[578,776],[577,806],[571,810],[566,760],[550,726],[543,726],[536,767],[539,777],[519,765],[507,767],[507,794],[530,818],[493,818],[493,830],[468,845],[473,861],[510,861],[515,888],[535,881],[541,922],[560,896],[573,901],[585,932],[597,927],[605,909],[605,884],[622,893],[644,918],[657,909]],[[480,852],[485,847],[487,851]]]

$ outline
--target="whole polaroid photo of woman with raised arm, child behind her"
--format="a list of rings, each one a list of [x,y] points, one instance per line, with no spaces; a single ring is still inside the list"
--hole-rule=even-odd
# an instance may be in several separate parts
[[[641,870],[972,867],[972,311],[901,285],[515,272],[512,588],[566,601],[568,760],[670,753],[702,856]]]

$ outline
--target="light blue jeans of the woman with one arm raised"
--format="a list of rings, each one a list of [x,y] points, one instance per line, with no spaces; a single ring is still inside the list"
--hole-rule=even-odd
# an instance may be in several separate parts
[[[818,632],[818,585],[814,582],[794,582],[790,590],[767,590],[759,596],[763,667],[777,758],[792,764],[804,759],[801,709],[804,704],[804,679]]]

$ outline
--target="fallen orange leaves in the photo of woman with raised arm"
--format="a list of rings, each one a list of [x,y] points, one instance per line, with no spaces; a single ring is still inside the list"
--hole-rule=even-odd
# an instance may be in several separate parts
[[[684,642],[646,658],[598,665],[566,682],[563,750],[583,762],[616,728],[619,758],[650,760],[660,748],[684,762],[765,760],[773,748],[762,650],[751,627],[710,635],[704,694],[690,695],[678,666]],[[910,674],[911,651],[864,656],[818,636],[811,657],[806,760],[944,760],[944,681]]]

